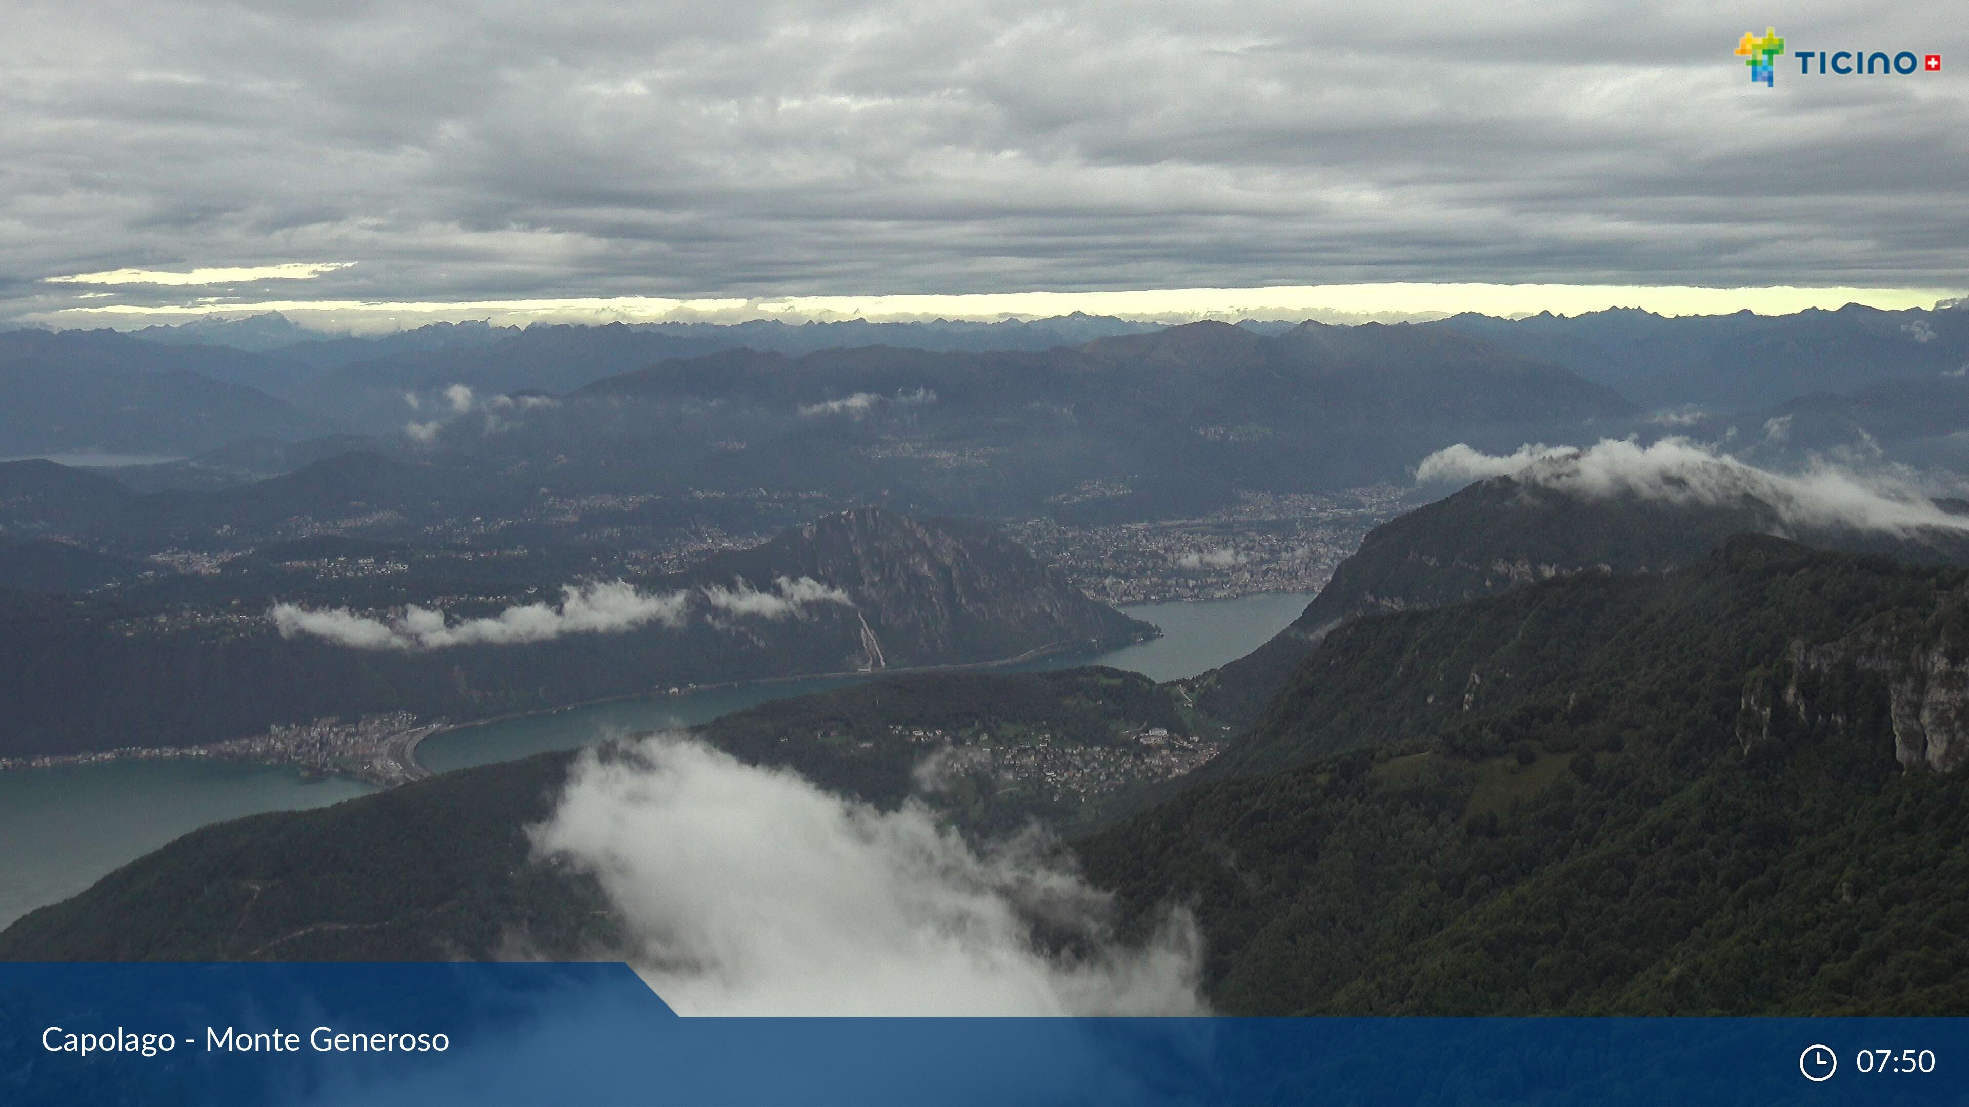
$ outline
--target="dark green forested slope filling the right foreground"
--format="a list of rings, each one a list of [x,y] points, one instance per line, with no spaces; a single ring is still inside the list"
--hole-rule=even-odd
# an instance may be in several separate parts
[[[1240,1012],[1969,1010],[1965,573],[1735,538],[1349,622],[1085,843]]]

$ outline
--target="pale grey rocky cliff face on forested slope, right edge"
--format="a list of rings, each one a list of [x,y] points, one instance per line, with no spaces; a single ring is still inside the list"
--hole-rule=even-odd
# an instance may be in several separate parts
[[[1792,723],[1841,731],[1878,723],[1878,695],[1867,695],[1859,684],[1874,691],[1884,685],[1884,721],[1902,768],[1955,772],[1969,760],[1963,642],[1947,632],[1937,638],[1930,624],[1916,624],[1904,613],[1876,619],[1837,642],[1792,640],[1780,664],[1745,682],[1737,741],[1748,752],[1758,743],[1782,741]],[[1869,713],[1874,717],[1865,717]]]

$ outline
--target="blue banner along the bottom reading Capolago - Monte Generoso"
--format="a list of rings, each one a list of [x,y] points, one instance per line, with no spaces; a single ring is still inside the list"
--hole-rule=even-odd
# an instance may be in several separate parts
[[[167,1044],[165,1044],[167,1042]],[[0,965],[0,1103],[1965,1103],[1955,1018],[677,1018],[626,965]]]

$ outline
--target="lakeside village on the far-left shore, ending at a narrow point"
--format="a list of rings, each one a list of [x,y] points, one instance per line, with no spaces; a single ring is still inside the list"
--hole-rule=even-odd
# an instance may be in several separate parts
[[[301,776],[349,776],[378,788],[392,788],[429,776],[417,764],[417,743],[445,727],[443,719],[423,721],[410,711],[366,715],[354,723],[327,717],[299,725],[274,725],[264,735],[195,747],[124,747],[79,754],[0,758],[0,772],[104,760],[207,758],[291,764],[301,770]]]

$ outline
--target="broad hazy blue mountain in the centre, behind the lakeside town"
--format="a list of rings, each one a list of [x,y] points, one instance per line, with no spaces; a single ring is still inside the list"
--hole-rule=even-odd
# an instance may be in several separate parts
[[[435,441],[528,479],[553,479],[553,459],[612,487],[888,488],[937,512],[1099,522],[1406,481],[1447,441],[1504,449],[1630,414],[1449,331],[1193,323],[1040,353],[727,351],[473,414]]]

